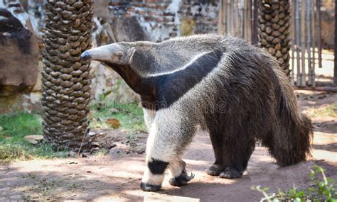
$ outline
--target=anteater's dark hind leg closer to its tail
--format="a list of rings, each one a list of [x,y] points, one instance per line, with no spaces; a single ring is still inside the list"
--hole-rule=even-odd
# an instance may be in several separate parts
[[[247,168],[248,161],[255,148],[255,140],[250,136],[238,136],[233,135],[232,137],[235,138],[232,138],[232,140],[227,138],[223,142],[223,167],[225,169],[220,173],[221,178],[240,178]]]

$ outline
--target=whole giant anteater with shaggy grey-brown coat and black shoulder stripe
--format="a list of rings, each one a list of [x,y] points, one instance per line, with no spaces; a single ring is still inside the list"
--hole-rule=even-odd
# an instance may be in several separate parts
[[[311,121],[289,79],[271,55],[244,40],[193,35],[114,43],[82,58],[109,65],[141,96],[149,127],[144,191],[160,189],[166,169],[174,186],[191,180],[181,157],[197,128],[210,134],[210,175],[242,176],[257,140],[282,167],[309,155]]]

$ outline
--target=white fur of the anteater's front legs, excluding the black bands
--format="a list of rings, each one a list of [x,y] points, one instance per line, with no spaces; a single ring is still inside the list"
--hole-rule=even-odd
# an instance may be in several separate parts
[[[149,111],[146,113],[146,116],[149,116]],[[185,168],[181,155],[196,133],[196,127],[188,123],[188,120],[181,119],[184,116],[179,113],[180,111],[173,111],[170,108],[156,111],[146,142],[146,169],[142,183],[161,186],[164,180],[164,173],[151,173],[149,162],[153,159],[169,163],[167,168],[174,177],[180,176]]]

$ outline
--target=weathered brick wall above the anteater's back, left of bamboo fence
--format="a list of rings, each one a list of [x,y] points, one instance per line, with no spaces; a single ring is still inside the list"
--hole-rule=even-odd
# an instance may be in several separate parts
[[[218,1],[215,0],[112,0],[109,15],[136,16],[150,40],[218,32]]]

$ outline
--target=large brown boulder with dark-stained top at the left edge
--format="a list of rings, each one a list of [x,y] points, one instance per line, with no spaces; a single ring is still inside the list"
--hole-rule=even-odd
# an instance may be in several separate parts
[[[38,40],[7,9],[0,9],[0,96],[30,91],[38,79]]]

